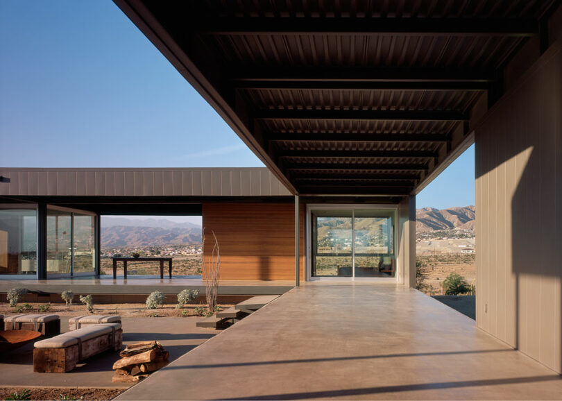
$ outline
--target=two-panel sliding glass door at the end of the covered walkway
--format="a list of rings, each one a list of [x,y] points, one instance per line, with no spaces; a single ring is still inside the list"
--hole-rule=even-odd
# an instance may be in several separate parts
[[[312,210],[312,277],[393,278],[395,210]]]

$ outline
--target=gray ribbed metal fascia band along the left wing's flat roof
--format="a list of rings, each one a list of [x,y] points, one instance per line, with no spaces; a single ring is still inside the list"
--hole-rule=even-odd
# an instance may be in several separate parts
[[[0,196],[291,196],[265,168],[8,169]]]

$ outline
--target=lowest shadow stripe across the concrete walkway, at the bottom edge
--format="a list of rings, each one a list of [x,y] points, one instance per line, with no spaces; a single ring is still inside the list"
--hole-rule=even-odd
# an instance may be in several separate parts
[[[241,398],[226,398],[226,400],[306,400],[308,398],[352,397],[381,393],[399,393],[404,391],[423,391],[441,389],[461,389],[463,387],[498,386],[502,384],[521,384],[532,382],[550,382],[561,380],[559,375],[510,377],[509,379],[469,380],[466,382],[438,382],[424,384],[405,384],[403,386],[366,387],[364,389],[346,389],[335,391],[310,391],[303,393],[268,394]]]

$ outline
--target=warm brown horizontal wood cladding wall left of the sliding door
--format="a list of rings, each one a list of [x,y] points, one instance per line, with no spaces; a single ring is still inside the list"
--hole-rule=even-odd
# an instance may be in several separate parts
[[[203,252],[212,233],[221,250],[221,280],[295,279],[295,206],[291,203],[204,203]],[[300,206],[300,278],[304,278],[304,206]]]

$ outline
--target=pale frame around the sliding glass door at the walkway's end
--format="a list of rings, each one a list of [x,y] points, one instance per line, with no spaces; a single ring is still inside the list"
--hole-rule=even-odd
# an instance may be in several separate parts
[[[355,277],[355,251],[352,250],[352,276],[351,277],[313,277],[312,276],[312,246],[314,244],[314,239],[312,235],[314,232],[312,230],[312,211],[313,210],[352,210],[352,244],[355,244],[355,210],[392,210],[394,212],[394,226],[393,226],[393,246],[394,255],[396,260],[396,271],[394,277]],[[364,204],[347,204],[347,203],[309,203],[307,204],[306,210],[306,235],[305,235],[305,281],[368,281],[368,282],[384,282],[398,283],[400,277],[400,257],[398,257],[398,205],[364,205]],[[355,248],[355,245],[354,247]]]

